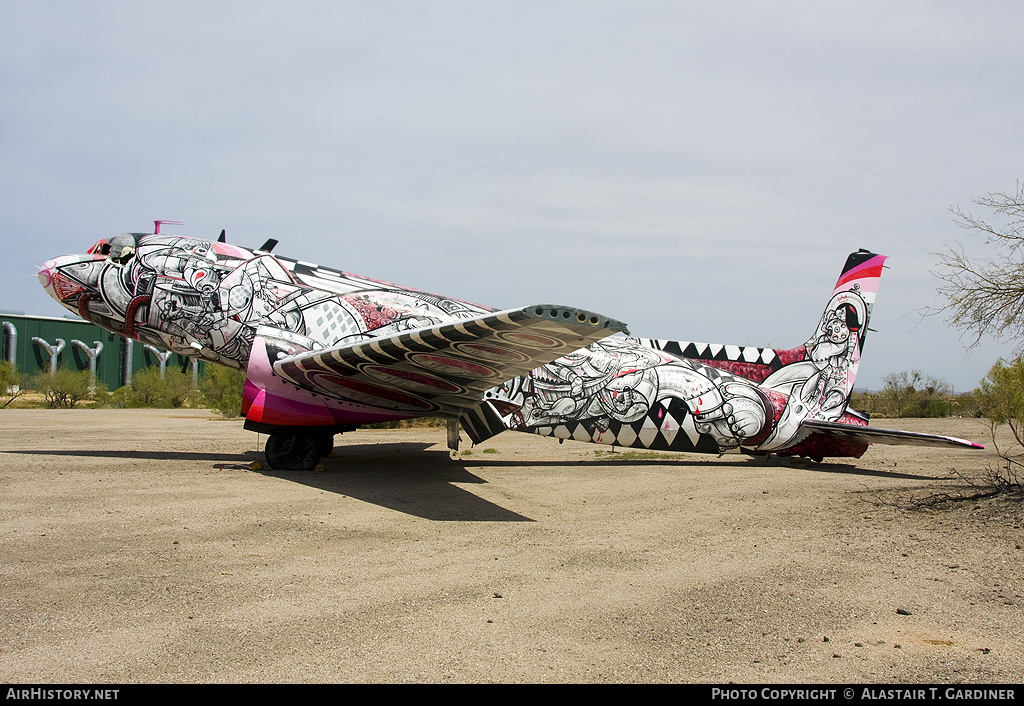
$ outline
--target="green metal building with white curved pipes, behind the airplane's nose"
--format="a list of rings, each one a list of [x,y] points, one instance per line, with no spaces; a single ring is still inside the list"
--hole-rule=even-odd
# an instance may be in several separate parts
[[[133,373],[150,366],[188,366],[198,378],[203,364],[178,354],[167,355],[150,345],[123,338],[81,319],[30,317],[0,312],[0,355],[32,377],[55,368],[90,370],[110,390],[131,380]],[[163,360],[162,360],[163,359]]]

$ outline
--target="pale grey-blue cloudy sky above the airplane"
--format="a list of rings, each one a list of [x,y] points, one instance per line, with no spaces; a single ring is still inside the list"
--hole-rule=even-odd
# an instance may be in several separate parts
[[[1024,178],[1024,4],[0,0],[0,309],[163,231],[650,338],[793,347],[890,259],[858,387],[977,386],[934,252]],[[981,212],[979,212],[981,214]]]

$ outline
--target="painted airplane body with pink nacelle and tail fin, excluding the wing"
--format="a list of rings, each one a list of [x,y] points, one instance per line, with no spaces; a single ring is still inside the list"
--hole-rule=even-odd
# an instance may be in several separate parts
[[[802,431],[801,423],[865,423],[847,411],[847,401],[884,259],[871,253],[851,258],[814,334],[797,348],[611,336],[528,374],[496,380],[481,404],[502,428],[561,439],[675,451],[860,456],[866,445]],[[435,412],[418,404],[417,380],[408,373],[400,389],[388,387],[388,369],[377,366],[379,384],[310,392],[279,379],[275,360],[496,310],[269,252],[166,234],[101,241],[87,254],[47,261],[39,279],[63,306],[104,329],[247,370],[244,412],[273,428],[341,427]],[[458,351],[449,360],[455,359]],[[473,365],[474,359],[466,360]],[[420,382],[428,378],[420,375]],[[500,430],[494,426],[481,438]]]

